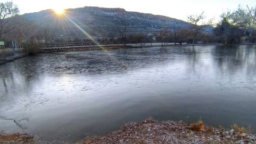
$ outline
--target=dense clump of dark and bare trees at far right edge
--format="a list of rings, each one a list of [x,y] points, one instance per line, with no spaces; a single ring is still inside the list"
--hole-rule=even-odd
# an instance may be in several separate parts
[[[214,34],[225,44],[239,43],[245,36],[247,41],[256,41],[256,7],[242,7],[234,11],[223,12],[222,20],[214,30]]]

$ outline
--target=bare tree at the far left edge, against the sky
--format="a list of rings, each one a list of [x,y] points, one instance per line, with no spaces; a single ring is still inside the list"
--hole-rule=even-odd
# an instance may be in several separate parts
[[[0,3],[0,40],[2,40],[2,35],[8,33],[14,28],[5,29],[9,20],[7,18],[13,17],[19,14],[19,9],[17,5],[12,2],[1,2]]]

